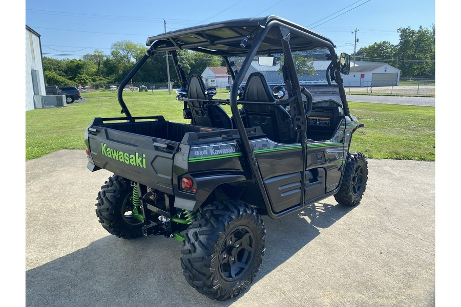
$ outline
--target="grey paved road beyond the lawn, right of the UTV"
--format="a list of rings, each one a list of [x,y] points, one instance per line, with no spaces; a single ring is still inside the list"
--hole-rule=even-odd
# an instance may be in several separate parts
[[[372,95],[346,95],[346,97],[347,97],[347,101],[354,101],[354,102],[435,106],[434,97],[372,96]]]

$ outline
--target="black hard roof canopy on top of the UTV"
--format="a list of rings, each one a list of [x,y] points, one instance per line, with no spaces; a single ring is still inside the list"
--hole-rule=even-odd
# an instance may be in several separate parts
[[[242,56],[248,53],[253,39],[271,23],[289,28],[292,51],[336,47],[330,39],[277,16],[233,19],[171,31],[149,37],[146,45],[153,46],[155,52],[188,49],[221,56]],[[257,54],[282,52],[278,28],[268,31]]]

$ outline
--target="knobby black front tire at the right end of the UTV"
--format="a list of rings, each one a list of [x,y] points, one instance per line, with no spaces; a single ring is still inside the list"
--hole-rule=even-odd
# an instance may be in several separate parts
[[[349,152],[343,182],[334,199],[346,206],[355,206],[362,200],[368,180],[368,162],[362,152]]]

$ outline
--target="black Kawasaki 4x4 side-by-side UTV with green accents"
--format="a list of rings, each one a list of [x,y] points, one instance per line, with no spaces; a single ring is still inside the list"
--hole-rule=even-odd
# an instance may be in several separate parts
[[[348,206],[361,201],[367,160],[349,146],[363,125],[349,113],[341,79],[350,58],[277,16],[162,33],[146,45],[118,87],[126,117],[94,118],[85,133],[88,168],[114,173],[98,193],[96,215],[117,237],[178,239],[187,282],[229,299],[261,265],[261,215],[279,218],[332,195]],[[181,84],[172,103],[183,105],[190,123],[132,116],[123,101],[134,74],[165,52]],[[184,52],[222,58],[229,93],[217,94],[219,76],[186,74]]]

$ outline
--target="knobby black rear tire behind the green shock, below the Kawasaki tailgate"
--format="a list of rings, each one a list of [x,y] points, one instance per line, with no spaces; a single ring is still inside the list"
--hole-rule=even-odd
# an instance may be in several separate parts
[[[124,239],[142,235],[142,221],[133,213],[133,187],[130,181],[114,175],[101,187],[96,198],[96,216],[109,233]]]

